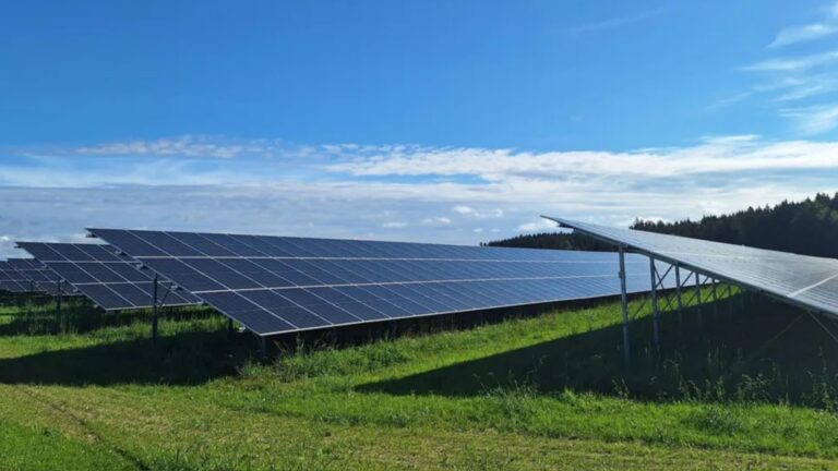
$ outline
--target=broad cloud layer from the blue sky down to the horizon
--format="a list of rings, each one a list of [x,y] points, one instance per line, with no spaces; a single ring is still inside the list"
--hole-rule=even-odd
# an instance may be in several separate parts
[[[340,145],[325,165],[322,148],[307,146],[311,160],[292,164],[208,168],[169,158],[3,160],[0,256],[20,256],[14,240],[81,240],[92,226],[477,243],[551,230],[540,214],[609,225],[697,218],[834,192],[838,181],[838,142],[754,135],[623,153]]]

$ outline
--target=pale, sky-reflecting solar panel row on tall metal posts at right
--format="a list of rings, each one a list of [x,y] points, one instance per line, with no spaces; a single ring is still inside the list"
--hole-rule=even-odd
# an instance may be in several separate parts
[[[615,244],[838,317],[838,259],[547,217]]]

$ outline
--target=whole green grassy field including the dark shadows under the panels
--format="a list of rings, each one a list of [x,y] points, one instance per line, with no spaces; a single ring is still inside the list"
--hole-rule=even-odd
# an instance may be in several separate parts
[[[146,313],[75,301],[59,327],[17,299],[0,469],[838,469],[835,340],[735,298],[667,313],[659,349],[641,310],[627,369],[613,301],[260,362],[207,311],[166,318],[154,348]]]

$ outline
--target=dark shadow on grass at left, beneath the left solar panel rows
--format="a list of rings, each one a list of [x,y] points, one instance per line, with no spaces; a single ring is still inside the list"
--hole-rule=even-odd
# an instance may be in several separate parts
[[[0,359],[0,383],[84,386],[199,385],[234,375],[250,357],[252,338],[192,331]]]

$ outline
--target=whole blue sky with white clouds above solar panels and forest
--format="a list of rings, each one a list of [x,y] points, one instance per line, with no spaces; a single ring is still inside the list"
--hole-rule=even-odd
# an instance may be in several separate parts
[[[0,257],[85,227],[476,244],[838,190],[838,3],[0,3]]]

